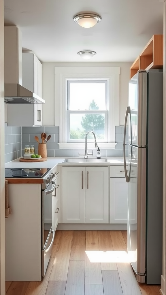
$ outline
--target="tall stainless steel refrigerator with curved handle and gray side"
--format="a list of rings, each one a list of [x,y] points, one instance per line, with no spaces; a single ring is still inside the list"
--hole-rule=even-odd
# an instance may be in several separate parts
[[[160,284],[162,275],[162,130],[163,72],[140,70],[129,82],[123,155],[127,250],[137,281],[147,284]]]

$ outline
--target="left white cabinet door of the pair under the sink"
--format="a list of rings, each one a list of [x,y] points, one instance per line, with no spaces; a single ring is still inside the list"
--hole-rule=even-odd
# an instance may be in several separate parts
[[[62,167],[62,222],[85,223],[85,167]]]

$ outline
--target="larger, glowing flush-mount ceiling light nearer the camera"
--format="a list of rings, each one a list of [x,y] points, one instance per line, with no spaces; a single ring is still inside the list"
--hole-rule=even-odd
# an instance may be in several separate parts
[[[77,14],[73,17],[74,22],[77,22],[83,28],[91,28],[101,21],[100,15],[93,13]]]

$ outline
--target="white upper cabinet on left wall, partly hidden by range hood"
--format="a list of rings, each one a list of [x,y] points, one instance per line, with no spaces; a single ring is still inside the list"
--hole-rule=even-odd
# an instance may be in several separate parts
[[[42,64],[33,53],[22,53],[22,86],[42,98]],[[8,104],[7,125],[42,126],[42,104]]]

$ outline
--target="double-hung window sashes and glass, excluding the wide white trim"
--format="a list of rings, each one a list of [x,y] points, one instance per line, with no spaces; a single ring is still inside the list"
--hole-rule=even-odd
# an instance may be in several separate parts
[[[67,142],[84,142],[88,131],[108,142],[108,81],[67,81]],[[92,142],[93,135],[88,135]]]

